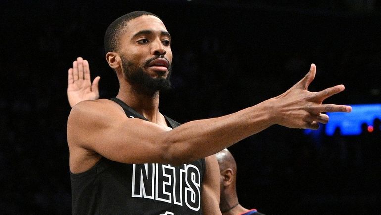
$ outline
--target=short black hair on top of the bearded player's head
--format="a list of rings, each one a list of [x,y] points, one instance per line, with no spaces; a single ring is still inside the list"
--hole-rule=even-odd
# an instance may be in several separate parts
[[[123,29],[126,26],[126,24],[130,20],[135,19],[139,16],[143,16],[143,15],[156,16],[157,18],[160,19],[160,17],[158,17],[157,15],[147,11],[134,11],[117,18],[108,26],[106,33],[104,34],[105,53],[117,51],[119,46],[119,36],[123,32]]]

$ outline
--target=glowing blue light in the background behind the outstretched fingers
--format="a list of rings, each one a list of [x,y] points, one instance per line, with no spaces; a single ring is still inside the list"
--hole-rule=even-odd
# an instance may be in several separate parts
[[[327,113],[330,121],[326,125],[321,125],[321,129],[305,130],[308,135],[321,135],[323,132],[332,136],[336,129],[340,129],[341,135],[360,135],[362,127],[368,132],[373,132],[373,121],[376,118],[381,119],[381,104],[353,104],[350,113]],[[365,127],[366,126],[366,127]]]

